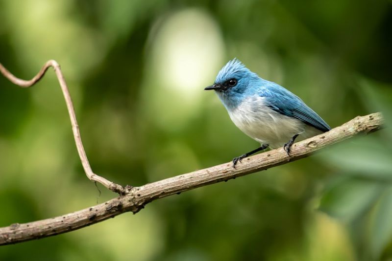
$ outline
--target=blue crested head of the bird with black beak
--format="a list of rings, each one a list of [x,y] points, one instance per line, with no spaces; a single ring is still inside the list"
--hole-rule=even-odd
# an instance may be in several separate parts
[[[260,81],[259,76],[250,71],[238,59],[230,60],[221,68],[212,86],[205,90],[215,90],[226,106],[235,106],[251,94]]]

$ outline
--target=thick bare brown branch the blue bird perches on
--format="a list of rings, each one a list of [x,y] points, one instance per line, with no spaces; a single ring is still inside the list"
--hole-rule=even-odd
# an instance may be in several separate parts
[[[377,131],[382,124],[383,117],[379,112],[358,116],[331,131],[294,143],[290,157],[283,148],[279,148],[245,158],[242,164],[237,165],[237,169],[234,169],[232,163],[229,162],[134,187],[129,189],[124,196],[61,217],[25,224],[15,223],[0,228],[0,245],[66,233],[107,218],[113,218],[124,212],[137,213],[152,200],[286,164],[359,133]]]

